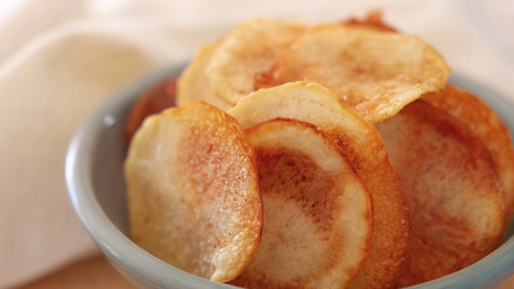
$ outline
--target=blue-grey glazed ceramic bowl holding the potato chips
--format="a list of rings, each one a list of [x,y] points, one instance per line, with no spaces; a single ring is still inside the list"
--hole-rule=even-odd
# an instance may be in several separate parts
[[[120,89],[80,126],[68,148],[66,184],[76,214],[107,260],[141,288],[234,288],[183,272],[138,247],[128,237],[123,161],[124,123],[139,95],[178,75],[183,66],[160,70]],[[479,95],[514,134],[514,104],[463,74],[452,72],[450,84]],[[503,244],[482,260],[451,275],[411,286],[417,289],[487,288],[514,273],[514,237],[509,226]]]

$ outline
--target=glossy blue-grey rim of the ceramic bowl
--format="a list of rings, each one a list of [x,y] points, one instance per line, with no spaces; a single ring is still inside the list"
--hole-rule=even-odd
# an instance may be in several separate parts
[[[212,282],[169,265],[147,253],[126,237],[107,217],[93,192],[93,157],[102,132],[112,125],[113,111],[119,111],[121,105],[130,107],[140,93],[170,77],[179,75],[185,65],[171,66],[153,73],[122,87],[108,97],[80,125],[69,144],[64,175],[68,196],[82,226],[87,234],[108,259],[114,261],[126,273],[138,278],[150,287],[180,288],[236,288],[229,284]],[[449,83],[460,86],[480,95],[514,133],[514,104],[503,95],[468,76],[452,72]],[[112,119],[111,119],[112,120]],[[116,266],[115,266],[116,267]],[[120,268],[117,268],[120,270]],[[151,274],[150,274],[151,273]],[[453,274],[426,283],[410,286],[411,289],[436,289],[462,287],[486,288],[498,283],[514,273],[514,236],[506,240],[499,248]],[[127,277],[127,276],[125,276]]]

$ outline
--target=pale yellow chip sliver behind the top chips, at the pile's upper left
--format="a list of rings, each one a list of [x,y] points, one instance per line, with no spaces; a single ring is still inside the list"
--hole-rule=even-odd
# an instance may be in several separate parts
[[[218,44],[218,42],[212,42],[201,47],[193,61],[180,74],[177,82],[178,106],[190,101],[203,100],[224,110],[233,107],[232,104],[217,96],[205,73]]]

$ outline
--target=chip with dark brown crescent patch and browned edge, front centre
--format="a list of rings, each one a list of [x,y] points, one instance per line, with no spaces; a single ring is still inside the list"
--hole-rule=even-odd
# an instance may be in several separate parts
[[[233,281],[247,288],[344,288],[372,229],[370,196],[339,146],[311,124],[274,119],[246,130],[264,203],[262,241]]]

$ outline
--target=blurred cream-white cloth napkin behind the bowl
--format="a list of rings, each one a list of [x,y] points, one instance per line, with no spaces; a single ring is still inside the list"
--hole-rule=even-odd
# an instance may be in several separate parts
[[[187,61],[249,17],[316,23],[373,9],[514,101],[509,0],[0,2],[0,287],[96,252],[69,204],[64,156],[80,122],[110,93]]]

